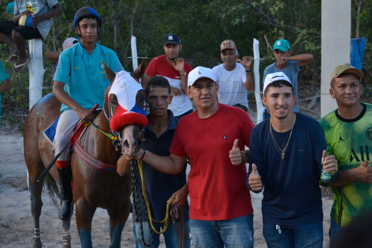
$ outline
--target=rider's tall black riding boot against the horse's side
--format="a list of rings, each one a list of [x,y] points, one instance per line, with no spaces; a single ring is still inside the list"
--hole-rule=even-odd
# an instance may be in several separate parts
[[[61,209],[58,212],[61,220],[67,220],[71,215],[71,205],[73,204],[71,189],[71,167],[58,168],[61,189]]]

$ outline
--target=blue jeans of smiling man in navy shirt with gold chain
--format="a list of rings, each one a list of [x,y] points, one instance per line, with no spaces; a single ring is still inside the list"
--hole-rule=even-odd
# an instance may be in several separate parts
[[[323,222],[308,225],[280,226],[263,224],[267,248],[323,248]]]

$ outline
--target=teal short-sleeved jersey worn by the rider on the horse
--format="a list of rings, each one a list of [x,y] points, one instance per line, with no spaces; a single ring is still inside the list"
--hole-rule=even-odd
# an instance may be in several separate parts
[[[103,107],[104,93],[110,85],[103,62],[114,72],[123,71],[115,52],[96,43],[92,54],[80,44],[63,51],[58,59],[53,81],[65,84],[67,94],[81,106],[92,109],[95,103]],[[61,113],[70,107],[62,104]]]

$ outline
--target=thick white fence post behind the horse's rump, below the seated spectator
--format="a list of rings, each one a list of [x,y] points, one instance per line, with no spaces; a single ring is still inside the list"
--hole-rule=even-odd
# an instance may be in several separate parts
[[[43,66],[43,42],[42,39],[28,41],[29,54],[29,109],[41,99],[43,93],[44,66]],[[27,186],[29,187],[29,175],[27,171]]]

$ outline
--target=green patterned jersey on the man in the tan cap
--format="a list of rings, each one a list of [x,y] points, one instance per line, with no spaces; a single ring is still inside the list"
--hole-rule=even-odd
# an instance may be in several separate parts
[[[355,119],[342,118],[336,109],[319,120],[339,171],[356,168],[362,161],[372,159],[372,105],[362,103],[362,106],[362,113]],[[331,220],[340,226],[346,226],[361,211],[372,207],[372,184],[352,181],[332,190]]]

